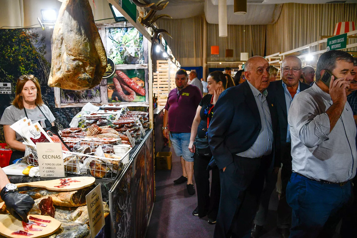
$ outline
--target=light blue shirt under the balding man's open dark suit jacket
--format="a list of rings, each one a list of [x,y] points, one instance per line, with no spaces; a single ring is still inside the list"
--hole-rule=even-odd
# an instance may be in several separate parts
[[[253,146],[248,150],[238,153],[237,156],[247,157],[247,158],[258,158],[263,155],[270,155],[273,145],[273,126],[271,123],[270,110],[266,96],[268,95],[267,90],[262,93],[257,90],[248,81],[249,87],[253,92],[255,101],[258,106],[260,120],[262,122],[262,129],[254,142]]]

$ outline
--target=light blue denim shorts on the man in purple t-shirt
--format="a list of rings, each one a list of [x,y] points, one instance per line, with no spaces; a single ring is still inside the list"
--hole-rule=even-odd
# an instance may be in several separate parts
[[[176,156],[182,156],[187,162],[193,162],[193,153],[188,150],[191,133],[170,133],[172,146],[174,146]]]

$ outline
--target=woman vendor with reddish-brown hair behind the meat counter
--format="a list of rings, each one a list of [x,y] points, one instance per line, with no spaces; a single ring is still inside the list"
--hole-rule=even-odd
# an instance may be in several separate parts
[[[52,112],[42,101],[40,83],[34,75],[22,75],[17,80],[16,95],[11,104],[0,120],[0,125],[4,125],[6,143],[12,148],[10,164],[24,157],[26,149],[22,137],[10,128],[12,124],[27,117],[32,123],[39,122],[45,128],[54,126],[55,121]]]

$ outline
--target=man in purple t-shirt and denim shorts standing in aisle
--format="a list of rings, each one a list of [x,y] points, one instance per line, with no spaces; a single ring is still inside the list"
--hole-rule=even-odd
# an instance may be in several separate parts
[[[195,194],[192,183],[193,153],[188,150],[191,136],[191,126],[195,118],[198,104],[202,99],[198,87],[188,85],[185,70],[178,70],[175,77],[176,88],[167,97],[162,133],[171,139],[176,156],[181,157],[182,176],[174,181],[180,184],[187,181],[188,194]]]

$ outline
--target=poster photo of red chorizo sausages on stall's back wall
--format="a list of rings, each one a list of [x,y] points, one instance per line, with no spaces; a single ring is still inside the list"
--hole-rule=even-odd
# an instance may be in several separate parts
[[[145,69],[116,70],[107,78],[108,102],[145,102]]]

